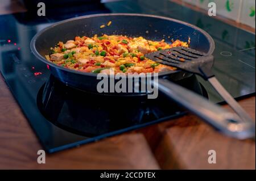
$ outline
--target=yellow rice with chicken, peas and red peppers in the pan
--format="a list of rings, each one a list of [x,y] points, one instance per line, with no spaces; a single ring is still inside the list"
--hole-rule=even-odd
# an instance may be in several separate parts
[[[120,35],[76,36],[65,43],[60,41],[46,58],[56,65],[84,72],[109,74],[113,68],[114,73],[158,73],[175,68],[148,60],[144,54],[177,46],[188,47],[188,43],[175,40],[168,44],[164,40]]]

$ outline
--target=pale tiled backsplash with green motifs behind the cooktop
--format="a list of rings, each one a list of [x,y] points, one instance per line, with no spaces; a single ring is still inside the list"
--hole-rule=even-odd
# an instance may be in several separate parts
[[[217,14],[255,28],[255,0],[182,0],[208,10],[208,3],[215,2]]]

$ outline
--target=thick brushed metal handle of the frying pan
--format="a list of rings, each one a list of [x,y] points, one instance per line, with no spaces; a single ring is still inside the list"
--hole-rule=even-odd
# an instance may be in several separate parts
[[[228,112],[167,79],[160,78],[158,81],[152,81],[152,84],[168,98],[199,116],[217,131],[241,140],[255,137],[255,123],[245,123],[235,113]]]

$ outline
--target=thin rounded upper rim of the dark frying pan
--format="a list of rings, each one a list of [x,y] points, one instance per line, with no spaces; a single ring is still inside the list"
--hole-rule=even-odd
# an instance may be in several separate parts
[[[67,23],[67,22],[72,22],[73,20],[78,20],[78,19],[85,19],[85,18],[92,18],[92,17],[99,17],[99,16],[143,16],[143,17],[150,17],[150,18],[158,18],[158,19],[165,19],[165,20],[170,20],[172,22],[176,22],[176,23],[180,23],[180,24],[184,24],[185,26],[188,26],[188,27],[191,27],[191,28],[194,28],[198,31],[200,31],[201,33],[203,33],[203,35],[208,39],[209,41],[209,44],[210,44],[210,48],[207,52],[207,54],[212,54],[214,49],[215,49],[215,43],[214,43],[214,40],[213,38],[209,35],[209,33],[207,33],[206,31],[202,30],[201,28],[193,25],[193,24],[190,24],[190,23],[187,23],[187,22],[183,22],[181,20],[177,20],[177,19],[173,19],[173,18],[168,18],[168,17],[165,17],[165,16],[158,16],[158,15],[150,15],[150,14],[137,14],[137,13],[106,13],[106,14],[92,14],[92,15],[85,15],[85,16],[79,16],[79,17],[75,17],[75,18],[69,18],[69,19],[65,19],[65,20],[62,20],[60,22],[57,22],[57,23],[54,23],[52,24],[51,26],[48,26],[46,28],[43,28],[43,30],[39,31],[38,33],[36,33],[34,35],[34,37],[32,37],[31,39],[31,42],[30,42],[30,48],[32,50],[32,53],[35,55],[36,58],[38,58],[40,61],[44,62],[45,64],[47,65],[51,65],[53,66],[54,68],[56,69],[60,69],[60,70],[64,70],[64,71],[68,71],[70,73],[75,73],[75,74],[81,74],[81,75],[87,75],[87,76],[90,76],[90,77],[97,77],[97,74],[93,74],[93,73],[86,73],[86,72],[83,72],[83,71],[77,71],[77,70],[72,70],[72,69],[68,69],[68,68],[63,68],[61,66],[58,66],[56,64],[53,64],[52,62],[50,61],[47,61],[46,58],[44,58],[39,52],[38,50],[36,50],[35,48],[35,43],[36,43],[36,40],[38,38],[38,36],[40,36],[43,32],[47,31],[48,29],[51,29],[55,26],[58,26],[60,24],[63,24],[63,23]],[[164,75],[168,75],[168,74],[174,74],[174,73],[177,73],[181,70],[170,70],[170,71],[164,71],[162,73],[159,73],[157,76],[160,77],[160,76],[164,76]],[[134,77],[137,77],[139,75],[134,75]],[[155,76],[153,74],[153,76]],[[127,76],[126,76],[127,77]]]

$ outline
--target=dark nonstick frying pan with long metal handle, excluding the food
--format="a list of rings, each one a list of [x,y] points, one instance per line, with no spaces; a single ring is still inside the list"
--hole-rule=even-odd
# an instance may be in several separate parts
[[[100,28],[102,24],[109,21],[112,21],[111,26]],[[132,37],[143,36],[146,39],[157,41],[166,39],[170,43],[171,40],[167,39],[168,36],[181,41],[188,41],[190,38],[192,49],[206,54],[212,54],[214,50],[212,37],[200,28],[171,18],[143,14],[99,14],[64,20],[38,32],[31,40],[31,49],[40,61],[49,65],[53,76],[61,82],[78,89],[97,92],[97,84],[101,81],[97,79],[97,74],[57,66],[47,61],[44,56],[49,54],[50,47],[54,47],[59,41],[65,42],[75,36],[90,37],[94,34],[100,36],[103,33]],[[181,70],[162,72],[158,74],[158,82],[152,82],[152,85],[158,87],[159,91],[168,98],[195,113],[218,131],[236,138],[254,136],[254,129],[251,129],[251,124],[242,123],[237,115],[209,103],[201,96],[174,83],[191,75],[191,73]],[[166,77],[173,82],[168,81]],[[143,93],[112,93],[112,95],[142,96]]]

